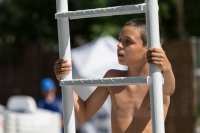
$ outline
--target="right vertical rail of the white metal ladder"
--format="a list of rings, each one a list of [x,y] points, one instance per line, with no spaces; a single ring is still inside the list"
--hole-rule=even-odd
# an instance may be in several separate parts
[[[146,25],[148,47],[160,48],[158,1],[146,0]],[[164,133],[163,90],[160,69],[149,65],[151,118],[153,133]]]

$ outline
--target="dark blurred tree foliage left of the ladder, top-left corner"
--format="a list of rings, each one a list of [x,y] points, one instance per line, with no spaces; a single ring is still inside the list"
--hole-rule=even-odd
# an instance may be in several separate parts
[[[5,0],[0,6],[0,45],[56,41],[55,1]]]

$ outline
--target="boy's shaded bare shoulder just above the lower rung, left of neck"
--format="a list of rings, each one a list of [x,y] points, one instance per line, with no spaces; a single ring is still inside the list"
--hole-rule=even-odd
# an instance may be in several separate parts
[[[127,71],[126,70],[116,70],[116,69],[110,69],[106,72],[104,78],[110,78],[110,77],[125,77]]]

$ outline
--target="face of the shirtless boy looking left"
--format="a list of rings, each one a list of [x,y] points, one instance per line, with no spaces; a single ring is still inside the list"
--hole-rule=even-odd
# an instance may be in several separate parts
[[[124,26],[119,34],[118,62],[126,66],[141,66],[146,63],[146,47],[143,46],[139,29]]]

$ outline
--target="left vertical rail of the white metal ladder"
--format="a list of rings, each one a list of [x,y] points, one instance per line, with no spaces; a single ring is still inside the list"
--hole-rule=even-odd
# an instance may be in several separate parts
[[[56,0],[57,12],[68,11],[67,0]],[[58,41],[60,58],[65,58],[71,63],[71,46],[69,33],[69,19],[57,19],[58,24]],[[61,80],[72,79],[72,73],[63,75]],[[74,118],[74,101],[73,88],[62,86],[62,103],[63,103],[63,119],[64,132],[75,133],[75,118]]]

